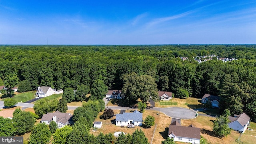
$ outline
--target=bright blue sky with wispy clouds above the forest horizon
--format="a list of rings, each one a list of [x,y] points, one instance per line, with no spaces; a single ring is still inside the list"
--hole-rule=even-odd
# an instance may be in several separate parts
[[[0,0],[0,44],[256,44],[256,0]]]

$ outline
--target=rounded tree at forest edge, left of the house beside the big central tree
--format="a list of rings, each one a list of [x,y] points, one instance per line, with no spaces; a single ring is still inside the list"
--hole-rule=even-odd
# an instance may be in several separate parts
[[[108,87],[104,84],[103,80],[94,80],[91,86],[91,100],[101,100],[106,96]]]

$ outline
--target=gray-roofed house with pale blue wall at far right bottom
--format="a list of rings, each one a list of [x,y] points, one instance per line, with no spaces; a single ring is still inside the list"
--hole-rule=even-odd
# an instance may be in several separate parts
[[[250,117],[244,112],[239,115],[235,114],[234,116],[230,116],[229,120],[231,122],[228,123],[228,126],[239,132],[244,132],[247,126],[250,124]]]

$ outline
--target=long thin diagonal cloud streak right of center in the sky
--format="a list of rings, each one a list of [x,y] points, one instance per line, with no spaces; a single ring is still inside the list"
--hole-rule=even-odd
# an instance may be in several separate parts
[[[169,17],[164,17],[164,18],[156,18],[156,19],[152,20],[151,22],[148,22],[147,27],[152,27],[152,26],[155,26],[155,25],[163,23],[163,22],[167,22],[167,21],[174,20],[177,18],[182,18],[182,17],[187,16],[193,12],[194,11],[188,11],[188,12],[184,12],[182,14],[177,14],[174,16],[169,16]]]

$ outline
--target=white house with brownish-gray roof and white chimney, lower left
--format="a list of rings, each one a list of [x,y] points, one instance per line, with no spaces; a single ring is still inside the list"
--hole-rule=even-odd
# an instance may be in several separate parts
[[[70,113],[62,113],[58,110],[56,112],[48,112],[44,114],[41,119],[41,123],[50,124],[51,121],[56,122],[58,128],[62,128],[69,124],[74,124],[72,120],[72,114]]]

